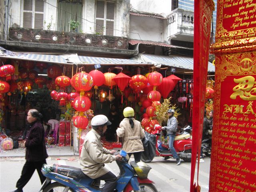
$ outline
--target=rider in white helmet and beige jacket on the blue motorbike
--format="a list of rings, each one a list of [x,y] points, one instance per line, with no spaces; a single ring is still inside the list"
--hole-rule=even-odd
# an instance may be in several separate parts
[[[111,122],[104,115],[96,115],[91,121],[92,130],[88,132],[84,139],[80,155],[80,166],[82,172],[95,180],[104,180],[105,185],[102,192],[111,192],[116,187],[117,177],[106,167],[104,163],[121,160],[120,154],[113,155],[115,150],[108,150],[102,147],[100,137],[106,132],[107,126]]]

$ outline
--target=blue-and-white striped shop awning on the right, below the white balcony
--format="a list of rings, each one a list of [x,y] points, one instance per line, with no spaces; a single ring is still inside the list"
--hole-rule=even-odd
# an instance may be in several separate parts
[[[142,64],[154,64],[157,67],[164,65],[174,68],[194,69],[194,59],[188,57],[138,54],[132,59]],[[215,66],[211,62],[208,62],[208,72],[215,72]]]

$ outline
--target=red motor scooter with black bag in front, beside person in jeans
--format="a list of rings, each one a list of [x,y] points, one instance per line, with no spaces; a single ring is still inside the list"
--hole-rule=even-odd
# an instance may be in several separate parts
[[[160,125],[155,125],[152,134],[145,132],[146,135],[143,140],[144,152],[141,155],[143,162],[149,163],[155,156],[172,157],[170,150],[166,150],[161,146],[163,134],[161,128]],[[186,128],[187,131],[189,131],[189,128]],[[173,145],[181,159],[185,162],[191,162],[192,136],[188,132],[184,131],[176,136]]]

